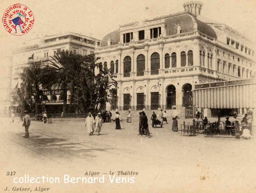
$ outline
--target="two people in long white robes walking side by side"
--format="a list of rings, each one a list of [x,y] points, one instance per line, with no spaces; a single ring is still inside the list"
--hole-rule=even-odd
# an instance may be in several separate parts
[[[103,120],[102,120],[102,116],[101,116],[100,112],[97,114],[95,119],[94,119],[92,113],[89,112],[88,117],[86,118],[86,121],[85,121],[85,127],[87,129],[87,134],[93,135],[94,132],[97,132],[98,135],[100,135],[102,123],[103,123]]]

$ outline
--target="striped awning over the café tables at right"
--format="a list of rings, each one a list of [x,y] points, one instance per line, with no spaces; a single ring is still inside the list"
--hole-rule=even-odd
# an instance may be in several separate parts
[[[195,85],[195,108],[255,108],[256,79]]]

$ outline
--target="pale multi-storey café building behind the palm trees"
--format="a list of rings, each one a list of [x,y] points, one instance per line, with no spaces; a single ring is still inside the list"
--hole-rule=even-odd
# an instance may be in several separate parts
[[[87,55],[93,54],[95,47],[100,45],[100,40],[92,37],[84,36],[78,33],[67,32],[57,35],[44,36],[34,40],[30,40],[23,44],[22,47],[14,51],[12,57],[12,76],[11,88],[15,88],[21,83],[19,74],[23,67],[28,66],[29,62],[42,61],[48,62],[51,57],[62,50],[70,50],[76,54]],[[43,103],[46,108],[51,108],[51,113],[61,113],[63,99],[61,99],[61,88],[52,88],[52,90],[43,90]],[[70,92],[68,91],[68,103],[70,103]]]

